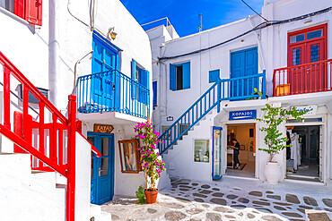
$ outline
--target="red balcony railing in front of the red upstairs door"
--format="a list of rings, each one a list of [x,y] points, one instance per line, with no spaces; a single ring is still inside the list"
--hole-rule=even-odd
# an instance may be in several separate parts
[[[332,59],[275,69],[274,97],[331,90]]]

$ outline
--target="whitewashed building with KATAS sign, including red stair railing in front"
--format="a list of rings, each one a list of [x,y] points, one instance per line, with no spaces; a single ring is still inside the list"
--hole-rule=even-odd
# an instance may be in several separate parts
[[[5,30],[0,37],[0,64],[4,66],[1,124],[9,129],[1,130],[0,161],[13,162],[2,164],[0,173],[5,180],[0,193],[10,200],[0,200],[3,218],[65,220],[68,186],[64,176],[74,167],[76,220],[93,216],[90,201],[102,204],[116,195],[135,196],[145,180],[132,138],[135,124],[152,117],[152,55],[149,38],[134,17],[118,0],[86,4],[79,0],[4,0],[0,1],[0,27]],[[70,94],[76,96],[76,106],[71,106],[73,97],[68,103]],[[70,167],[67,140],[73,138],[68,134],[73,119],[78,120],[78,129],[74,132],[74,167]],[[22,139],[13,140],[13,133]],[[7,138],[16,144],[28,142],[26,148],[31,145],[53,163],[43,164],[37,152],[32,159],[25,154],[4,154],[22,153]],[[96,157],[98,151],[88,140],[101,157]],[[119,140],[132,142],[120,146]],[[13,173],[10,168],[15,165],[19,166]],[[50,167],[63,175],[34,172],[54,171]],[[8,178],[11,174],[16,180]],[[160,189],[170,183],[167,174],[162,177]],[[32,187],[25,190],[26,185]],[[9,186],[13,191],[8,191]],[[39,200],[39,209],[32,208],[33,199]],[[25,212],[17,212],[17,207]]]

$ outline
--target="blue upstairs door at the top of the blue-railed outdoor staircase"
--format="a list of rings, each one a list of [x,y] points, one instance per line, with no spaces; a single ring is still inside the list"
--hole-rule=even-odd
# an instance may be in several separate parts
[[[231,54],[231,98],[241,99],[254,94],[254,88],[259,89],[258,78],[246,79],[245,76],[258,74],[258,48],[232,52]],[[240,78],[240,79],[238,79]]]

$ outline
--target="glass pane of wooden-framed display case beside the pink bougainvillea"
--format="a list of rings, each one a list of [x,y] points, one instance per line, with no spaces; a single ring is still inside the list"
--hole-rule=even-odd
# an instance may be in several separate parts
[[[122,169],[137,171],[134,143],[121,143]]]

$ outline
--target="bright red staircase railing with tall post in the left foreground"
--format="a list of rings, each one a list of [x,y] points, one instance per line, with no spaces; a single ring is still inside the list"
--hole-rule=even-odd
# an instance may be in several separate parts
[[[0,64],[4,67],[4,124],[0,123],[0,133],[13,141],[15,152],[31,154],[32,169],[55,170],[67,178],[66,220],[74,221],[76,97],[68,97],[67,119],[1,52]],[[11,89],[19,84],[22,99],[16,103],[11,101]],[[29,93],[39,100],[39,115],[29,113]],[[11,102],[15,109],[11,109]],[[92,151],[100,156],[93,146]]]

